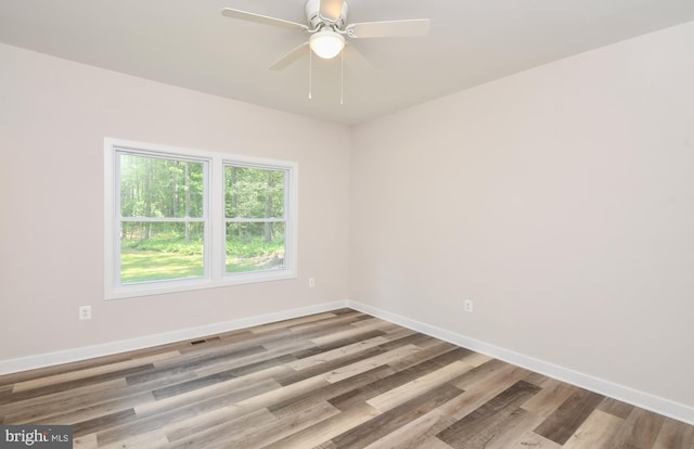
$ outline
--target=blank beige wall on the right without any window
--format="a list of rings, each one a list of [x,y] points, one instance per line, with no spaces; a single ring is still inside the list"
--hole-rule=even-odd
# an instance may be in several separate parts
[[[357,127],[351,299],[694,406],[692,49],[687,24]]]

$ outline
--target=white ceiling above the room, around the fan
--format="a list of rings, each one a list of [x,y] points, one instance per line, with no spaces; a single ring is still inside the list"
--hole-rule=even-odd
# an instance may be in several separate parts
[[[277,110],[358,124],[513,73],[694,21],[692,0],[348,0],[348,22],[428,17],[429,36],[352,40],[345,54],[268,66],[306,35],[305,0],[2,0],[0,41]],[[1,64],[1,62],[0,62]]]

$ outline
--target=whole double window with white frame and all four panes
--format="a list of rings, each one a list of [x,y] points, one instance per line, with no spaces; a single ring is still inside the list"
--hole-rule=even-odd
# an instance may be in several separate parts
[[[104,147],[106,298],[296,277],[296,164]]]

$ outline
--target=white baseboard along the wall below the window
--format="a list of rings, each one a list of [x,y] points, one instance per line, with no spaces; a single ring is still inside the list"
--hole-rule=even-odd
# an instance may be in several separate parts
[[[221,323],[189,328],[180,331],[166,332],[155,335],[146,335],[138,338],[105,343],[103,345],[86,346],[56,352],[40,354],[37,356],[0,360],[0,375],[34,370],[37,368],[51,367],[54,364],[87,360],[94,357],[110,356],[128,350],[137,350],[158,345],[166,345],[168,343],[184,342],[187,339],[200,338],[204,336],[220,334],[223,332],[235,331],[239,329],[250,328],[254,325],[305,317],[307,315],[321,313],[339,309],[342,307],[347,307],[346,300],[324,303],[316,306],[300,307],[297,309],[266,313],[248,318],[240,318],[237,320],[231,320]]]

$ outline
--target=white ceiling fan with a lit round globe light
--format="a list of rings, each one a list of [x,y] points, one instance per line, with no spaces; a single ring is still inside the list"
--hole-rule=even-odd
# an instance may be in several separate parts
[[[305,31],[309,35],[308,41],[272,64],[270,68],[273,70],[280,70],[292,64],[305,54],[307,47],[320,57],[327,60],[335,57],[345,48],[345,36],[351,39],[416,37],[426,36],[429,31],[428,18],[349,24],[347,23],[349,8],[346,0],[307,0],[305,10],[306,25],[232,8],[224,8],[221,13],[227,17]]]

